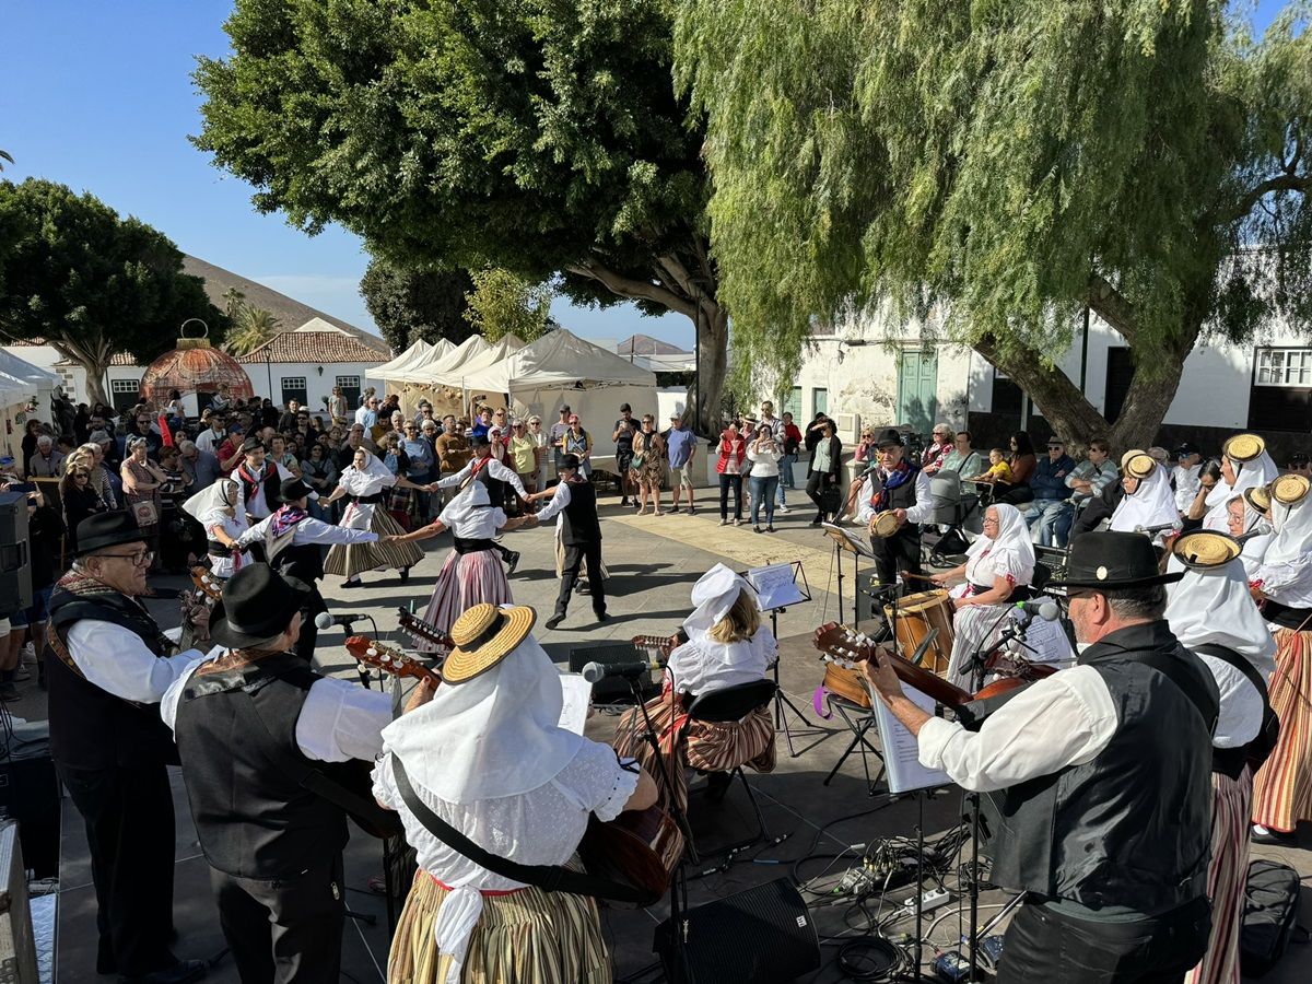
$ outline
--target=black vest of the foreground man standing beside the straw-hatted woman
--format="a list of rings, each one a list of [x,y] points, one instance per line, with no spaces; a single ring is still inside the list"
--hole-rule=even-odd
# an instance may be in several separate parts
[[[345,812],[287,769],[332,775],[344,768],[311,761],[297,745],[297,719],[316,680],[304,660],[279,653],[186,681],[173,731],[201,849],[219,871],[283,878],[345,846]]]

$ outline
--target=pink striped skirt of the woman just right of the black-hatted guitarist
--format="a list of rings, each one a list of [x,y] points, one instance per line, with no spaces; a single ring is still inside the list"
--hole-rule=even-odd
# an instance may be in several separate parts
[[[1212,773],[1212,861],[1207,869],[1207,897],[1212,900],[1212,934],[1202,963],[1186,984],[1239,984],[1239,932],[1248,880],[1248,811],[1253,774],[1245,769],[1232,779]]]

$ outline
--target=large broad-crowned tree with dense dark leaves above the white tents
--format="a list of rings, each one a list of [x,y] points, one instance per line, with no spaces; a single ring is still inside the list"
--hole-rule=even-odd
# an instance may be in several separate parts
[[[670,0],[237,0],[201,59],[195,143],[314,232],[403,266],[562,276],[583,303],[693,319],[703,421],[728,316]]]

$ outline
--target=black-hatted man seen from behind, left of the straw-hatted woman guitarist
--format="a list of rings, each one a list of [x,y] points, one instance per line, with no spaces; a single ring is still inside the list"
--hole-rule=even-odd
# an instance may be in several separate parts
[[[237,571],[210,619],[228,652],[189,666],[160,708],[244,981],[338,979],[341,803],[371,802],[353,760],[382,752],[392,719],[387,694],[321,677],[291,652],[304,594],[266,564]]]

